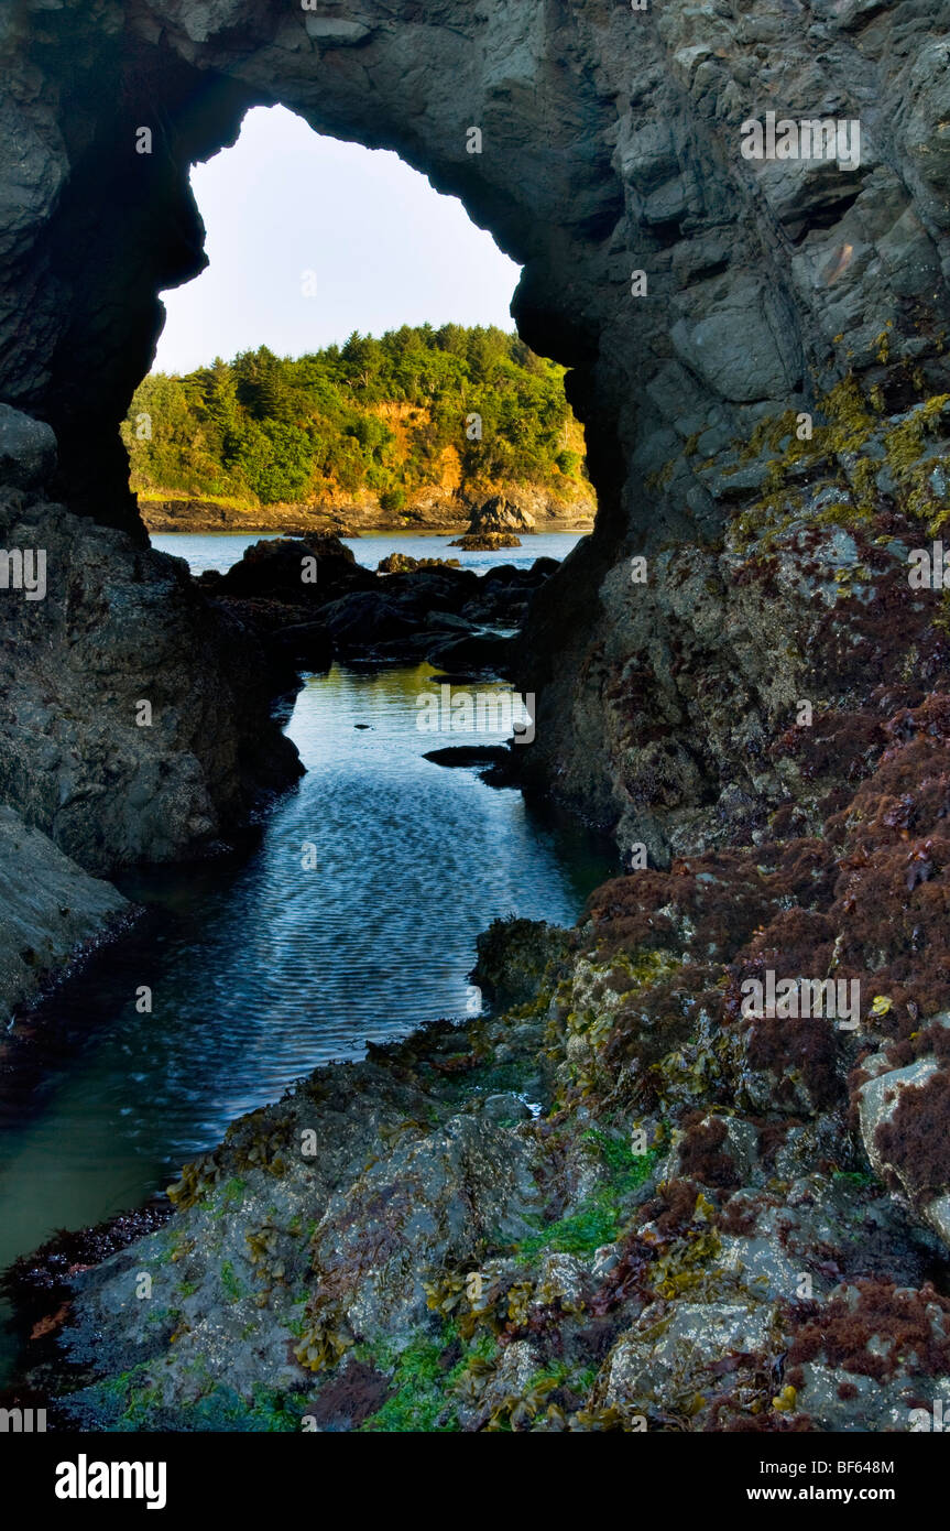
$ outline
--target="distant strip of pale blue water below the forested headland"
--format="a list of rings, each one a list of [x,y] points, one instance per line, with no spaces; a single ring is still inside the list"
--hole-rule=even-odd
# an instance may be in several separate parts
[[[220,574],[229,570],[242,557],[249,544],[263,537],[277,537],[283,533],[259,533],[248,536],[246,531],[170,531],[151,537],[151,547],[161,553],[174,553],[179,559],[188,559],[193,574],[203,574],[207,570],[217,570]],[[419,534],[418,531],[381,531],[366,537],[344,537],[343,540],[353,550],[356,563],[367,570],[375,570],[381,559],[390,553],[407,553],[413,559],[457,559],[462,568],[483,574],[493,563],[514,563],[516,568],[531,568],[535,559],[566,559],[583,533],[580,531],[538,531],[525,534],[520,548],[503,548],[499,553],[464,553],[462,548],[450,548],[456,531],[445,534]]]

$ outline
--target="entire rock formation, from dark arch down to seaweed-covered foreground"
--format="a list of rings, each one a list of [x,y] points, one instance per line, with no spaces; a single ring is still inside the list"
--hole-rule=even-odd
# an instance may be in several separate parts
[[[490,932],[493,1014],[236,1122],[162,1226],[66,1268],[28,1382],[119,1430],[936,1425],[944,8],[333,12],[60,0],[3,29],[0,525],[49,557],[46,599],[2,606],[5,805],[49,842],[63,908],[101,902],[80,874],[211,850],[294,781],[272,698],[303,657],[438,652],[537,697],[522,778],[627,871],[574,931]],[[416,77],[434,87],[407,115]],[[457,194],[522,266],[520,335],[571,369],[597,527],[537,588],[509,582],[508,632],[467,614],[459,571],[369,591],[335,554],[332,599],[288,623],[251,565],[199,586],[147,548],[119,421],[158,294],[205,260],[190,165],[262,101]],[[860,164],[747,159],[766,101],[860,124]],[[408,530],[468,519],[416,510]],[[83,931],[55,894],[37,909],[54,960]],[[37,968],[8,948],[14,984]]]

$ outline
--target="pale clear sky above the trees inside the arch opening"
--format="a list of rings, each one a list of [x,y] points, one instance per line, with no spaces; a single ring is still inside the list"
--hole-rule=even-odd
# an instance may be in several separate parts
[[[297,357],[353,329],[381,335],[425,320],[514,329],[520,268],[456,197],[387,150],[257,107],[234,149],[193,168],[191,185],[211,265],[162,294],[153,371],[190,372],[260,344]]]

